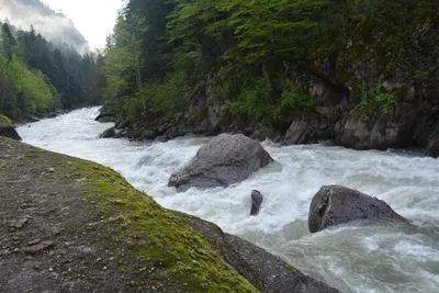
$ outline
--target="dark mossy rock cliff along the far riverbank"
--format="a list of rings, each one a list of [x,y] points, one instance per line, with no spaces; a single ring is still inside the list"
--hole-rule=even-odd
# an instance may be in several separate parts
[[[212,94],[215,74],[200,81],[189,103],[171,120],[127,125],[131,138],[169,139],[188,133],[244,133],[291,144],[331,139],[356,149],[420,147],[439,156],[439,16],[416,14],[404,23],[379,16],[361,22],[346,45],[323,36],[312,66],[291,71],[313,109],[289,121],[243,123],[225,114]],[[338,47],[338,48],[334,48]],[[126,126],[126,125],[123,125]]]

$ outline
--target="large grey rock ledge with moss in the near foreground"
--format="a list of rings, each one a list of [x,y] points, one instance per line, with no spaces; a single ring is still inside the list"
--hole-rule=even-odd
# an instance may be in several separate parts
[[[0,137],[0,292],[338,292],[110,168]]]

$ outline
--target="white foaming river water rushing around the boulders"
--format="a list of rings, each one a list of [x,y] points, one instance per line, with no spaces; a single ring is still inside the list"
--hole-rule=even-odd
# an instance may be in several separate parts
[[[404,151],[356,151],[264,142],[275,164],[230,188],[177,193],[170,173],[209,138],[167,143],[99,139],[112,123],[99,109],[22,125],[25,143],[112,167],[167,209],[216,223],[342,292],[439,292],[439,160]],[[387,202],[418,228],[340,226],[311,235],[307,213],[324,184],[342,184]],[[264,195],[250,217],[250,191]]]

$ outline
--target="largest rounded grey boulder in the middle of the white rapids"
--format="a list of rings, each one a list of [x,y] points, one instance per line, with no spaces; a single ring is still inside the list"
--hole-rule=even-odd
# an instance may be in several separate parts
[[[178,191],[228,187],[272,161],[258,142],[241,134],[221,134],[201,147],[183,168],[173,172],[168,184]]]

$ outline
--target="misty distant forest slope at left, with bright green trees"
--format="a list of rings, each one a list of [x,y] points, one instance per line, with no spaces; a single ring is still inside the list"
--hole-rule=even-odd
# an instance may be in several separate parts
[[[23,121],[99,103],[102,56],[55,46],[33,27],[25,32],[7,22],[0,25],[0,114]]]

